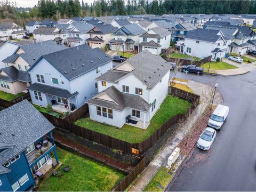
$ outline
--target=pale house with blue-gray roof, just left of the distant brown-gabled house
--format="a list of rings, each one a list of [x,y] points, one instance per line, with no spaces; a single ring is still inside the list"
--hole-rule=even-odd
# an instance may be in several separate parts
[[[62,24],[63,25],[63,24]],[[89,38],[87,34],[94,26],[86,22],[72,22],[68,29],[67,44],[69,46],[83,45],[86,39]]]

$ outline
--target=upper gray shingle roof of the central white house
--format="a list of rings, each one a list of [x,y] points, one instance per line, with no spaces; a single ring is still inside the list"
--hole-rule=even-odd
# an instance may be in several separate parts
[[[132,58],[127,59],[125,62],[130,63],[130,65],[132,65],[135,69],[127,74],[118,74],[116,73],[115,69],[119,65],[122,65],[122,63],[120,63],[115,68],[107,71],[107,73],[109,74],[103,74],[99,76],[97,80],[117,83],[119,77],[122,78],[125,75],[133,74],[137,78],[139,78],[141,82],[143,82],[143,84],[145,84],[148,87],[148,89],[153,89],[153,87],[171,69],[170,65],[168,65],[167,62],[162,57],[160,57],[159,55],[154,55],[150,53],[148,50],[142,51],[134,55]],[[113,76],[113,79],[111,79],[110,76]]]

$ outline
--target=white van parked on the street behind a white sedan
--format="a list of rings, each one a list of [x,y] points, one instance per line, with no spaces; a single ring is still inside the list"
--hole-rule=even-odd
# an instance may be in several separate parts
[[[213,111],[212,115],[210,116],[208,126],[219,130],[228,116],[228,111],[228,106],[218,105],[217,108]]]

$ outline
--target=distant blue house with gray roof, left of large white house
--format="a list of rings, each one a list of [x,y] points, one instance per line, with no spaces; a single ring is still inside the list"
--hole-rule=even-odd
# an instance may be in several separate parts
[[[188,31],[195,30],[196,27],[190,22],[181,22],[170,29],[171,40],[174,42],[184,41],[184,36]]]

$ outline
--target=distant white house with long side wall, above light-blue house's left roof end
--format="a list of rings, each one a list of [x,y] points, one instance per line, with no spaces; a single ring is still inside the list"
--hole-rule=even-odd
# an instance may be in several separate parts
[[[66,43],[67,32],[58,27],[38,27],[33,32],[36,42],[53,40],[57,44]]]

